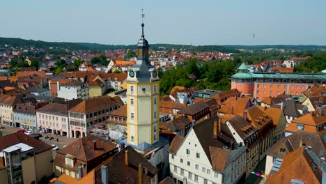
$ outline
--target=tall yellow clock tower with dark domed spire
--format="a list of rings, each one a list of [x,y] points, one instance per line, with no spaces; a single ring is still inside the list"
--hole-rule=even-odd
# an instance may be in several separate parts
[[[148,41],[142,35],[137,43],[137,63],[128,69],[127,144],[146,149],[159,140],[160,78],[148,60]]]

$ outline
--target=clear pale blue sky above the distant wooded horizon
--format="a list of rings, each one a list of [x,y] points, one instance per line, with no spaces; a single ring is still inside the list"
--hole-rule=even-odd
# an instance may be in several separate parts
[[[189,45],[326,45],[326,1],[1,0],[0,37]],[[256,37],[252,35],[256,33]]]

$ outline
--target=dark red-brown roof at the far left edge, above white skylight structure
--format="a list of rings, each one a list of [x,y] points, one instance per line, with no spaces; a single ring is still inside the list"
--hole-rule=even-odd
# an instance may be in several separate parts
[[[45,144],[44,142],[39,141],[38,139],[34,139],[33,137],[26,135],[23,132],[15,132],[13,134],[0,137],[0,142],[0,151],[9,146],[13,146],[19,143],[24,143],[33,147],[36,154],[52,149],[53,147],[49,144]]]

